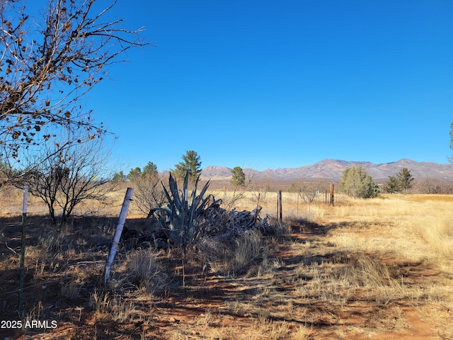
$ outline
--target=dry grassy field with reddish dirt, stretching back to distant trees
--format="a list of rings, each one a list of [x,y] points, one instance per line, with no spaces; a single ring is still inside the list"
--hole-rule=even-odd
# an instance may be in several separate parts
[[[2,192],[0,339],[453,339],[453,196],[284,192],[280,223],[275,192],[207,193],[225,209],[212,228],[260,205],[258,227],[169,247],[132,203],[107,285],[125,191],[62,227],[30,198],[18,317],[22,194]]]

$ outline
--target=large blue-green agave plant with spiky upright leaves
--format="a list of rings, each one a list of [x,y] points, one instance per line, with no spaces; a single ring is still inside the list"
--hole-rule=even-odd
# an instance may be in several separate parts
[[[200,195],[197,195],[198,179],[195,180],[195,186],[190,197],[188,196],[189,171],[185,173],[183,191],[178,190],[178,183],[176,183],[171,174],[170,179],[168,179],[170,193],[168,193],[164,183],[162,183],[168,205],[158,208],[161,212],[158,216],[159,222],[166,237],[168,237],[170,242],[178,246],[185,246],[193,241],[200,231],[197,225],[197,217],[209,200],[209,197],[203,199],[203,196],[210,181],[207,181]]]

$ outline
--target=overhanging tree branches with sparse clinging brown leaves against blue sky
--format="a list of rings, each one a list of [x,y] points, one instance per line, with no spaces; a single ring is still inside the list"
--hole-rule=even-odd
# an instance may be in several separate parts
[[[84,95],[127,50],[148,45],[142,29],[104,21],[116,2],[95,12],[96,0],[48,0],[42,17],[32,16],[25,0],[0,2],[1,160],[17,161],[21,150],[48,144],[55,127],[87,132],[59,144],[57,153],[105,132],[82,105]]]

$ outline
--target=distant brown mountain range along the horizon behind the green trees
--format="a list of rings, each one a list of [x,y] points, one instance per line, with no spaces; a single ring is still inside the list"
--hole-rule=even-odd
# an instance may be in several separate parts
[[[403,168],[408,168],[416,178],[430,178],[453,181],[453,165],[434,162],[415,162],[411,159],[401,159],[398,162],[374,164],[370,162],[346,162],[337,159],[325,159],[313,165],[301,166],[294,169],[267,169],[256,171],[243,169],[246,176],[254,180],[297,181],[300,179],[324,179],[339,181],[342,172],[351,166],[363,166],[375,181],[384,181],[389,176],[395,176]],[[207,166],[201,172],[201,178],[213,181],[231,179],[231,168],[224,166]]]

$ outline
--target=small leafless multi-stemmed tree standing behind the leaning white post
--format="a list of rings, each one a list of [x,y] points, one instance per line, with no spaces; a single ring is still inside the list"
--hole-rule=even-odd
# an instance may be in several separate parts
[[[56,149],[54,145],[45,145],[43,153],[48,155],[45,162],[32,171],[24,171],[27,175],[18,183],[28,185],[30,193],[45,202],[55,224],[57,211],[61,210],[59,222],[63,224],[80,203],[86,200],[105,203],[107,194],[115,190],[115,186],[107,183],[110,180],[105,169],[108,152],[103,149],[101,138],[55,153]],[[35,164],[34,159],[30,164]]]

